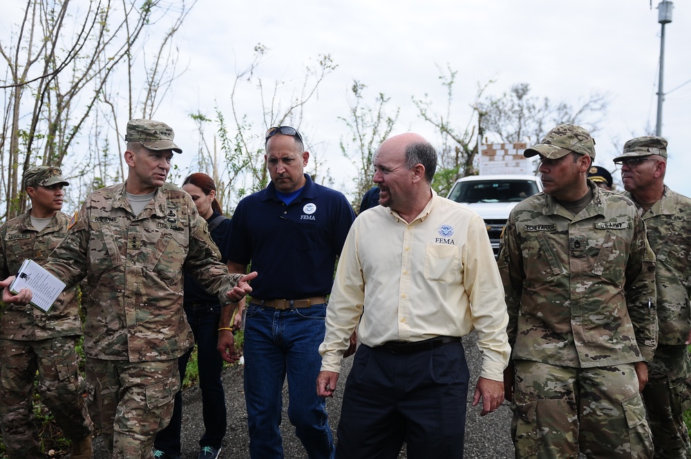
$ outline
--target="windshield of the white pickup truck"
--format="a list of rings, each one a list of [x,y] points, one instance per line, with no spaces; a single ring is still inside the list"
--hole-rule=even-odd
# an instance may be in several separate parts
[[[469,180],[457,183],[448,198],[457,203],[518,203],[538,191],[531,180]]]

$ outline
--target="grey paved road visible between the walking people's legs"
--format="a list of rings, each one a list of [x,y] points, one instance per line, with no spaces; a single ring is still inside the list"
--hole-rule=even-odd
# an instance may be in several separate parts
[[[471,335],[464,339],[466,356],[468,358],[468,368],[471,372],[471,391],[472,397],[475,391],[475,382],[480,373],[480,352],[475,345],[475,337]],[[327,401],[329,421],[332,429],[338,425],[341,400],[343,393],[343,383],[345,375],[350,371],[352,358],[345,359],[343,375],[339,379],[339,390],[334,397]],[[228,431],[225,436],[221,458],[225,459],[245,459],[249,458],[247,446],[249,437],[247,435],[247,411],[245,410],[245,397],[243,395],[243,368],[236,366],[227,368],[223,374],[225,385],[226,402],[228,405]],[[198,440],[203,433],[201,420],[201,393],[198,387],[192,387],[184,391],[184,410],[182,424],[182,459],[196,459],[198,453]],[[284,392],[283,422],[283,449],[287,459],[307,458],[307,453],[300,441],[294,435],[294,429],[288,421],[285,409],[287,408],[287,393]],[[466,420],[466,447],[465,459],[510,459],[513,458],[513,445],[511,444],[511,410],[507,402],[500,408],[480,417],[480,406],[471,406],[468,401],[468,417]],[[334,433],[334,438],[336,437]],[[95,459],[108,459],[100,440],[95,442]],[[399,459],[406,458],[406,452],[401,451]],[[436,459],[436,458],[435,458]]]

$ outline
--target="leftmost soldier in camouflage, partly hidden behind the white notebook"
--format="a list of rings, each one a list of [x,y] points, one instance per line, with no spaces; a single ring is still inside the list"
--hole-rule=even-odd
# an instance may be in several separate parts
[[[39,263],[62,241],[70,217],[60,212],[63,187],[58,167],[32,167],[22,188],[31,208],[0,227],[0,279],[17,272],[24,259]],[[0,312],[0,426],[8,458],[43,456],[34,423],[33,396],[38,392],[58,427],[72,441],[72,458],[91,458],[92,424],[84,404],[84,379],[75,350],[82,335],[77,288],[60,294],[44,312],[3,303]]]

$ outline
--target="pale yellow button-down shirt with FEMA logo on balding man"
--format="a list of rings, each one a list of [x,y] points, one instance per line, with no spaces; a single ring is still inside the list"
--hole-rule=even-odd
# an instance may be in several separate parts
[[[322,370],[340,371],[358,322],[359,339],[372,347],[475,329],[481,376],[502,381],[509,316],[486,227],[471,210],[432,194],[411,223],[381,206],[356,218],[326,314]]]

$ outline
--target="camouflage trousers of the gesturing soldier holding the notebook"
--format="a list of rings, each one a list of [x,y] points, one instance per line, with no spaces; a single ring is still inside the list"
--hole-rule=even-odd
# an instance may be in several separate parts
[[[86,357],[91,418],[113,458],[153,458],[156,433],[170,422],[180,388],[178,359],[128,362]]]

